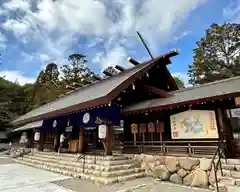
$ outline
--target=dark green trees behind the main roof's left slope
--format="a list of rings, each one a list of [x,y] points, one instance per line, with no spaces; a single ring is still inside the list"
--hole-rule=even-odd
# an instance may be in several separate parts
[[[11,128],[10,122],[16,117],[68,92],[66,85],[77,88],[85,83],[83,79],[90,81],[94,73],[86,64],[85,55],[72,54],[69,64],[63,65],[61,71],[57,64],[50,63],[39,73],[34,84],[23,86],[0,77],[0,129]],[[73,86],[73,82],[77,85]]]

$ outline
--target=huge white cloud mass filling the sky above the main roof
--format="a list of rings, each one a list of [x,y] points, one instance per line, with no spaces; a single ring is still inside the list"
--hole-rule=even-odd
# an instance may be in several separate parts
[[[136,30],[153,52],[160,54],[161,46],[172,38],[191,11],[207,0],[31,1],[35,6],[30,0],[20,4],[16,1],[10,0],[4,6],[8,13],[21,10],[17,18],[9,14],[3,24],[5,30],[12,31],[23,43],[38,44],[37,52],[57,61],[72,51],[77,38],[91,37],[88,48],[103,43],[105,54],[99,61],[104,68],[116,62],[128,63],[128,54],[140,44]]]

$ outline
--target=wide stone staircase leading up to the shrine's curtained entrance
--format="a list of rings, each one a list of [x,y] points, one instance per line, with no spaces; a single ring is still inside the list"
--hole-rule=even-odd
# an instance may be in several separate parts
[[[78,158],[76,154],[55,152],[33,152],[14,159],[17,163],[53,171],[80,179],[88,179],[101,184],[122,182],[144,177],[145,172],[133,159],[124,155],[93,156]]]

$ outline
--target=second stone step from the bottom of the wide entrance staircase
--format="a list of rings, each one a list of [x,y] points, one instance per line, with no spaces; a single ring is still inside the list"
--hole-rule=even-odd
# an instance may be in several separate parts
[[[53,167],[53,168],[66,169],[68,171],[74,171],[74,172],[78,172],[78,173],[83,172],[83,167],[79,167],[76,165],[61,165],[57,162],[55,162],[55,163],[46,162],[46,161],[44,162],[44,161],[33,160],[33,159],[24,158],[24,157],[22,158],[22,161],[27,161],[30,163],[40,164],[40,165],[47,165],[47,166]],[[87,165],[84,166],[85,173],[89,173],[89,174],[96,175],[96,176],[103,176],[103,177],[121,176],[121,175],[143,172],[143,171],[144,170],[141,169],[140,167],[123,169],[123,170],[104,171],[104,170],[97,170],[97,169],[95,169],[93,167],[89,167]]]

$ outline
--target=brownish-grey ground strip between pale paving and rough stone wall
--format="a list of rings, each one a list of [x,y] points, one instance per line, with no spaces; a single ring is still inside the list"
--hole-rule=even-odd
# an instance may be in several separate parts
[[[124,192],[124,190],[132,188],[135,188],[134,192],[210,192],[205,189],[158,182],[152,178],[141,178],[114,185],[96,185],[90,181],[72,178],[53,183],[76,192]]]

